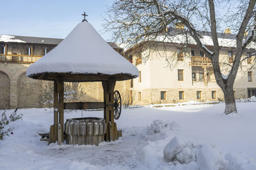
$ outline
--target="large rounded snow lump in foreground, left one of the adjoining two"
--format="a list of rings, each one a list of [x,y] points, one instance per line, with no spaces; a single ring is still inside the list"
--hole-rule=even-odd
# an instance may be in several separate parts
[[[166,162],[179,162],[180,164],[188,164],[196,161],[196,147],[193,143],[184,139],[174,137],[164,147],[164,160]]]

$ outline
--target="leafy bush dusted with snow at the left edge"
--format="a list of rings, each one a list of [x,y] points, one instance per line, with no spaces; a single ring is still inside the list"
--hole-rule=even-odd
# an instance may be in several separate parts
[[[4,136],[9,136],[9,132],[13,130],[13,128],[6,127],[6,125],[10,124],[10,122],[22,119],[22,114],[17,115],[16,111],[17,110],[15,110],[9,118],[6,117],[5,111],[2,113],[0,119],[0,140],[3,140]]]

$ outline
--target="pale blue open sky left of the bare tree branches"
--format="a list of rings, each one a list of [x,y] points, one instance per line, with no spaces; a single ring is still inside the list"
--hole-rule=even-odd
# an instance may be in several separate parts
[[[65,38],[86,12],[86,19],[106,39],[103,17],[113,0],[8,0],[1,1],[0,34]]]

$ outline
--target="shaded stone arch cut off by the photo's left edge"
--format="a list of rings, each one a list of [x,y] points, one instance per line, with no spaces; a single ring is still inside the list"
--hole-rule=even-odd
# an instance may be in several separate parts
[[[0,110],[10,109],[10,77],[0,71]]]

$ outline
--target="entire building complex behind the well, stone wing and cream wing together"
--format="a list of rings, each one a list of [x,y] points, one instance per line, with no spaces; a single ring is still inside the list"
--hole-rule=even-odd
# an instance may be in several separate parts
[[[179,34],[178,29],[170,35]],[[201,32],[208,48],[209,32]],[[234,57],[235,35],[230,31],[218,34],[220,62],[223,74]],[[33,80],[26,77],[28,66],[54,48],[62,39],[26,36],[0,36],[0,109],[41,108],[45,87],[53,87],[51,81]],[[150,44],[150,43],[149,43]],[[109,43],[117,52],[124,54],[140,71],[134,80],[116,82],[115,90],[122,95],[123,104],[160,104],[186,101],[222,101],[223,92],[216,84],[211,61],[191,41],[188,46],[179,40],[154,42],[157,50],[148,44],[125,50]],[[253,42],[243,57],[254,53]],[[72,49],[70,49],[72,50]],[[243,58],[242,57],[242,58]],[[243,61],[234,83],[236,99],[256,96],[255,57]],[[83,101],[103,101],[100,82],[79,83],[83,87]],[[43,87],[43,88],[42,88]]]

